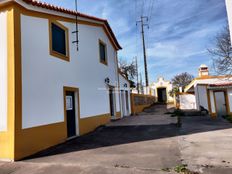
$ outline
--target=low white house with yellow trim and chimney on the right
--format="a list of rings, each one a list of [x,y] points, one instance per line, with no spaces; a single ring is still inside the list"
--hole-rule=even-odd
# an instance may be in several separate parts
[[[180,95],[181,109],[206,109],[210,115],[232,115],[232,76],[210,76],[206,65]]]

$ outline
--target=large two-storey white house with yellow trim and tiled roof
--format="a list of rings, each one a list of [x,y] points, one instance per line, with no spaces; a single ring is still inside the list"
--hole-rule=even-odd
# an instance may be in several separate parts
[[[130,114],[121,47],[107,20],[2,0],[0,26],[1,159],[21,159]]]

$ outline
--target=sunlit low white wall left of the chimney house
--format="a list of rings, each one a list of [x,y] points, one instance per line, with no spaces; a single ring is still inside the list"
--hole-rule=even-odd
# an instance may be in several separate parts
[[[180,95],[180,109],[196,109],[196,97],[193,94]]]

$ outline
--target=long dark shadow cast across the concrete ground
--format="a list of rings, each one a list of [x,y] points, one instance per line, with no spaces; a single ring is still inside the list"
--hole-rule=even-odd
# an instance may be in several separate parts
[[[164,108],[163,111],[166,112],[165,105],[163,105],[160,108]],[[149,109],[149,113],[152,113],[153,117],[157,116],[155,110],[156,109],[152,108]],[[157,111],[157,113],[159,113],[160,116],[161,111]],[[165,119],[165,117],[170,117],[170,115],[166,115],[163,112],[162,117],[164,117]],[[130,119],[133,119],[133,117],[130,117]],[[33,155],[25,160],[27,161],[34,158],[40,158],[45,156],[47,157],[57,154],[64,154],[76,151],[96,149],[101,147],[157,140],[180,135],[203,133],[230,128],[232,128],[232,125],[224,120],[211,119],[205,116],[183,118],[181,128],[177,127],[176,124],[104,126],[98,128],[96,131],[92,133],[70,140],[64,144],[52,147],[48,150]]]

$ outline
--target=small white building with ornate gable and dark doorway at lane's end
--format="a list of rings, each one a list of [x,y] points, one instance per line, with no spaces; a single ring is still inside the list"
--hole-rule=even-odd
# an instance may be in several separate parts
[[[163,77],[159,77],[157,82],[153,82],[150,85],[151,95],[155,96],[156,102],[160,103],[173,103],[174,99],[170,96],[169,92],[172,90],[172,84],[170,81],[164,80]]]

